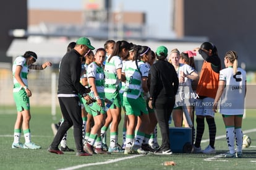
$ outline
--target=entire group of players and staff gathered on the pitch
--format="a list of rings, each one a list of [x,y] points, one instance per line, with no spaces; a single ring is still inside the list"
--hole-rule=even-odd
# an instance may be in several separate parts
[[[235,51],[225,54],[226,69],[221,70],[218,51],[210,42],[203,43],[193,51],[180,53],[178,49],[173,49],[169,56],[165,46],[159,46],[153,51],[149,46],[134,45],[124,40],[108,40],[104,48],[98,48],[93,53],[94,49],[88,38],[81,37],[69,44],[67,53],[61,59],[58,99],[62,119],[59,125],[52,126],[58,127],[58,130],[54,133],[49,152],[63,154],[63,151],[74,151],[66,143],[67,130],[73,126],[77,156],[116,152],[171,155],[171,114],[175,127],[190,127],[184,112],[191,118],[195,112],[196,129],[193,129],[196,136],[192,152],[216,153],[214,115],[220,104],[219,112],[226,125],[229,147],[229,153],[225,157],[242,157],[241,124],[246,73],[237,68]],[[194,63],[196,52],[204,59],[200,75]],[[45,62],[41,66],[34,65],[36,59],[35,53],[27,51],[23,56],[17,57],[13,65],[14,99],[18,114],[12,148],[41,148],[30,139],[29,97],[32,93],[28,89],[27,74],[28,69],[45,69],[51,66],[51,62]],[[209,106],[205,103],[212,104]],[[120,141],[117,140],[122,111],[123,140],[119,145]],[[205,119],[210,142],[202,150],[200,143]],[[157,141],[157,124],[162,137],[161,146]],[[26,140],[24,144],[20,142],[21,129]],[[108,129],[109,145],[106,141]],[[234,145],[237,146],[236,151]]]

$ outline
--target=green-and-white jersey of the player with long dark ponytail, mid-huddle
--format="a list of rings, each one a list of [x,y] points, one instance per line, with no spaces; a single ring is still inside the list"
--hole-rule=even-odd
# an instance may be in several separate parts
[[[119,87],[120,81],[117,77],[117,69],[122,69],[122,60],[119,56],[113,56],[110,61],[105,62],[105,93],[114,93]]]

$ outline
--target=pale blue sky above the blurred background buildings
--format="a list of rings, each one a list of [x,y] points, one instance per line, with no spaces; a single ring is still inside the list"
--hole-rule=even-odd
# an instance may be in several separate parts
[[[161,3],[160,3],[161,2]],[[173,36],[171,32],[171,9],[173,0],[112,0],[113,11],[123,6],[124,11],[145,12],[150,33],[162,38]],[[82,10],[82,0],[28,0],[30,9]]]

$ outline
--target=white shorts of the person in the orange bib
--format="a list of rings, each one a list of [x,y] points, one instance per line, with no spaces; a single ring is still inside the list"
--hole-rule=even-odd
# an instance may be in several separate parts
[[[195,115],[197,116],[211,116],[214,117],[213,112],[213,98],[203,98],[195,100]]]

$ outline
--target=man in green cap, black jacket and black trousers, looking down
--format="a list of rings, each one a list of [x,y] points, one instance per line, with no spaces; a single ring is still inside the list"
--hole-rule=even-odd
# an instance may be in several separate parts
[[[80,93],[87,103],[92,103],[92,98],[87,95],[90,89],[83,87],[80,81],[81,63],[89,49],[95,49],[88,38],[81,37],[77,40],[75,48],[62,57],[59,67],[58,99],[64,122],[58,129],[48,151],[63,154],[58,145],[67,130],[74,125],[74,139],[77,148],[77,156],[91,156],[83,150],[82,144],[82,113],[78,96]]]

